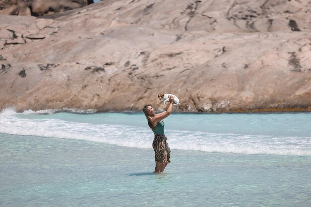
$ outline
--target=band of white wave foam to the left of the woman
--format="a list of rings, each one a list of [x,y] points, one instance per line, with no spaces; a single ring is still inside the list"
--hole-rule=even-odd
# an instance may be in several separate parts
[[[89,124],[67,122],[58,119],[25,119],[17,118],[12,109],[6,109],[0,114],[0,133],[14,135],[32,135],[40,137],[55,137],[63,139],[80,139],[104,142],[127,147],[149,148],[148,142],[137,142],[133,137],[133,127],[108,124]],[[23,113],[24,114],[24,113]],[[26,114],[31,114],[26,113]],[[36,113],[37,114],[37,113]],[[120,130],[121,129],[121,130]],[[136,133],[136,136],[146,137],[147,130]],[[142,139],[141,139],[142,140]]]

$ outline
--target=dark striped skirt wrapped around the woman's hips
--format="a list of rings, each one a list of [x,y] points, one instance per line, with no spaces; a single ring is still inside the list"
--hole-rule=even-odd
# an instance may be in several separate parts
[[[164,134],[156,134],[152,147],[155,151],[156,162],[164,162],[165,155],[167,155],[167,161],[170,162],[170,149],[167,144],[167,138]]]

